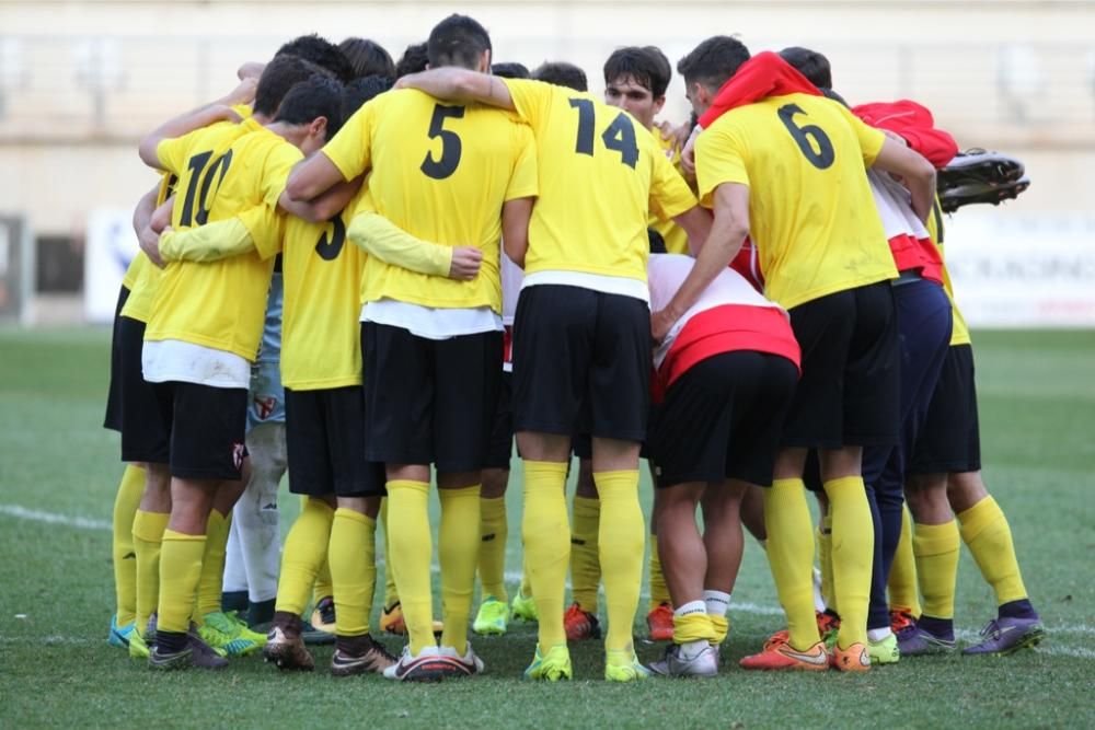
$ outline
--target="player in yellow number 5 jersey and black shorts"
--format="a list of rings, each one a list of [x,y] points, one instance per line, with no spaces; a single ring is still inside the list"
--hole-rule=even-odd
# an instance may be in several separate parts
[[[428,53],[430,66],[485,71],[491,39],[473,19],[452,15],[430,32]],[[466,629],[481,471],[503,357],[498,239],[503,231],[507,242],[526,235],[537,194],[532,136],[527,126],[481,105],[392,92],[364,106],[323,154],[301,165],[288,193],[308,200],[370,169],[374,212],[416,237],[470,245],[482,258],[477,277],[453,281],[369,256],[361,289],[366,454],[387,464],[389,558],[410,635],[399,663],[384,674],[474,674],[483,664]],[[431,633],[431,464],[441,500],[440,647]]]

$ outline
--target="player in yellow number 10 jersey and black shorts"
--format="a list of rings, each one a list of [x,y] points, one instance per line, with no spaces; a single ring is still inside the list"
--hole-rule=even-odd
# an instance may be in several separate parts
[[[141,159],[177,175],[184,192],[172,207],[172,227],[200,225],[264,204],[276,208],[301,152],[323,143],[328,119],[337,126],[339,103],[339,85],[321,77],[290,90],[268,126],[245,120],[243,136],[229,125],[203,129],[204,124],[184,118],[147,137]],[[214,109],[205,116],[217,118],[215,113],[223,115]],[[194,116],[205,120],[200,113]],[[197,130],[175,137],[180,127]],[[310,215],[323,212],[316,206]],[[160,560],[155,647],[149,657],[154,669],[224,663],[195,640],[191,612],[207,540],[227,542],[229,511],[239,496],[228,485],[241,476],[249,361],[258,348],[276,244],[267,235],[258,246],[263,254],[173,264],[153,302],[142,368],[145,379],[155,383],[162,429],[172,444],[171,518]]]

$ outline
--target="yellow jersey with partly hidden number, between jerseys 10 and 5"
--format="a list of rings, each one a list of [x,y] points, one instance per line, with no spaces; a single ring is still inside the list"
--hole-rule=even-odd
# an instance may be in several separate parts
[[[367,188],[337,216],[288,216],[281,253],[281,384],[314,391],[361,384],[359,289],[367,254],[346,235]]]

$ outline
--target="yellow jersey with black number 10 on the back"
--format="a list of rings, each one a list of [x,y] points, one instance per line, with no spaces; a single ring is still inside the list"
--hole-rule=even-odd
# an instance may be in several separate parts
[[[172,227],[178,230],[237,217],[257,206],[277,210],[296,147],[252,120],[217,124],[157,148],[160,163],[178,175]],[[276,220],[281,222],[284,217]],[[146,340],[178,339],[254,360],[263,332],[274,269],[270,241],[256,251],[211,263],[172,262],[163,270]]]

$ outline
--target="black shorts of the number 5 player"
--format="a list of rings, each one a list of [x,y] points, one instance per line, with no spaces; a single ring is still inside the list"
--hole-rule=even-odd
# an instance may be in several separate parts
[[[427,339],[362,322],[366,459],[482,470],[502,382],[502,338],[486,332]]]

